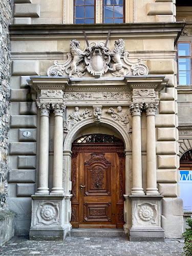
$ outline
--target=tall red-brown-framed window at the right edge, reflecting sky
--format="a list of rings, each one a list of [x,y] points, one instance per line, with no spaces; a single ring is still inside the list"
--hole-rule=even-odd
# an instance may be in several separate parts
[[[178,84],[191,84],[191,44],[190,42],[178,43]]]

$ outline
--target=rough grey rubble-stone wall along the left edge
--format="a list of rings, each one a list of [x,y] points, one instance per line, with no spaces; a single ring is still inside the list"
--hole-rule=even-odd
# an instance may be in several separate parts
[[[10,50],[9,24],[11,0],[0,0],[0,210],[6,207],[8,193],[8,140],[10,116]]]

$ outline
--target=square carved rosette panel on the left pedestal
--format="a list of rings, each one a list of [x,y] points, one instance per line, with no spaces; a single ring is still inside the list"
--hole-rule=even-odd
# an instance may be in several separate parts
[[[59,225],[59,202],[37,202],[38,225]]]

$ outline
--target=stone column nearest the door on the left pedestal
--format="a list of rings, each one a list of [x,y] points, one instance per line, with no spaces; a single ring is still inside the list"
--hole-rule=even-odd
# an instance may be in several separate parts
[[[53,188],[51,194],[63,194],[62,187],[62,156],[63,156],[63,104],[52,104],[55,114],[54,128],[54,159],[53,159]]]

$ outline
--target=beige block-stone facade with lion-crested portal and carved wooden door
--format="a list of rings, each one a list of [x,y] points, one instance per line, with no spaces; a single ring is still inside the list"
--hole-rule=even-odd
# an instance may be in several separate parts
[[[105,24],[112,2],[90,1],[95,24],[74,24],[76,2],[15,0],[7,208],[17,235],[63,240],[72,226],[99,226],[131,241],[182,237],[184,23],[174,0],[124,0],[123,23]]]

